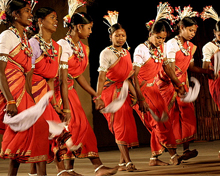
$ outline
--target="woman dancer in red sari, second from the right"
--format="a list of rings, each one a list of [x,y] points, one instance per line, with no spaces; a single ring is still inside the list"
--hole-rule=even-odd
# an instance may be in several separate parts
[[[184,7],[181,12],[180,8],[176,8],[179,13],[180,22],[178,23],[179,34],[167,42],[167,58],[176,76],[181,81],[181,85],[188,91],[188,76],[187,70],[209,74],[208,70],[194,66],[193,55],[196,51],[196,46],[190,42],[197,31],[197,22],[193,18],[197,12],[192,12],[192,7]],[[189,143],[194,139],[196,133],[196,117],[193,103],[185,103],[177,96],[175,87],[167,75],[162,71],[160,81],[157,82],[160,87],[160,92],[164,98],[169,116],[172,121],[173,133],[176,143],[183,144],[183,160],[196,157],[198,151],[189,150]]]

